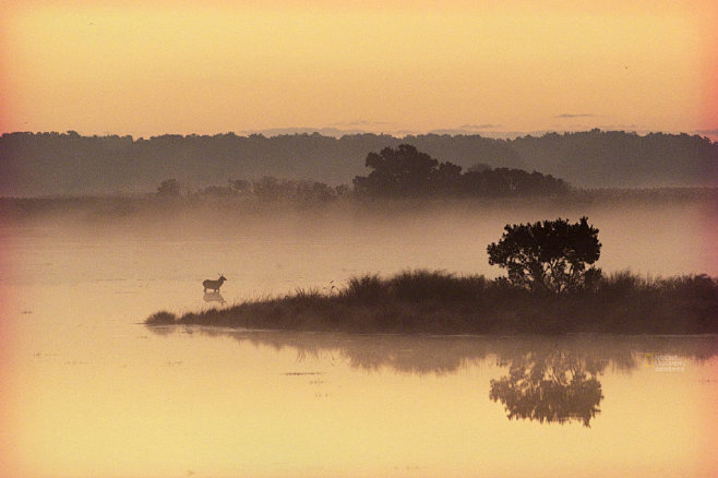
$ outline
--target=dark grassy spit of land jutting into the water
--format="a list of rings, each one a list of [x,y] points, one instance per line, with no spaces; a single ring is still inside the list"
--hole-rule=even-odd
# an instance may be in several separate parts
[[[555,294],[502,278],[410,271],[179,316],[161,311],[145,323],[350,333],[711,334],[718,333],[718,280],[618,273],[591,288]]]

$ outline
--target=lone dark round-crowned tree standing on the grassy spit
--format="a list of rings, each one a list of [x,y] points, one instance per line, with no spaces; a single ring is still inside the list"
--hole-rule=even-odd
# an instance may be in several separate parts
[[[508,272],[508,280],[534,290],[563,290],[593,286],[600,270],[586,264],[598,261],[601,243],[598,229],[588,218],[506,225],[501,240],[487,248],[489,264]]]

